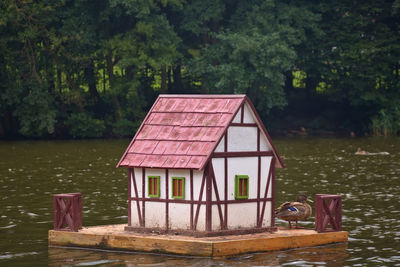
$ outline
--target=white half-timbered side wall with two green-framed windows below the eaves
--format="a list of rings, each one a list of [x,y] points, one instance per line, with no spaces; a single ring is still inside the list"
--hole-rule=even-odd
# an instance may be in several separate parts
[[[160,177],[158,198],[148,196],[149,176]],[[182,200],[171,198],[172,177],[185,178],[185,198]],[[134,168],[130,179],[130,226],[165,229],[167,225],[168,229],[191,229],[197,210],[197,205],[191,201],[199,199],[203,171]],[[205,190],[202,194],[205,201]],[[205,208],[202,206],[197,215],[200,231],[205,230]]]

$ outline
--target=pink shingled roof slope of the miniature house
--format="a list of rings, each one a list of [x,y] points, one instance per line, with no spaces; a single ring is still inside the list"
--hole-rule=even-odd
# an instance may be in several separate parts
[[[202,169],[245,95],[160,95],[118,167]]]

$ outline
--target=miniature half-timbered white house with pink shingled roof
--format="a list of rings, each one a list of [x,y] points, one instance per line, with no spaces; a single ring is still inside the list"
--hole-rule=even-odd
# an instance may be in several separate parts
[[[128,168],[126,230],[275,230],[284,165],[246,95],[160,95],[117,167]]]

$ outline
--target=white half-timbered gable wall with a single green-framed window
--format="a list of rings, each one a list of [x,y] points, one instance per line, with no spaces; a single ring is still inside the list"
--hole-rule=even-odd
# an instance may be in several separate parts
[[[271,151],[268,139],[256,122],[251,108],[245,104],[215,149],[216,153],[226,154],[212,159],[215,185],[218,188],[212,190],[212,230],[273,226],[273,155],[230,154]],[[246,201],[235,200],[235,175],[249,176]],[[219,207],[216,202],[221,203]]]

